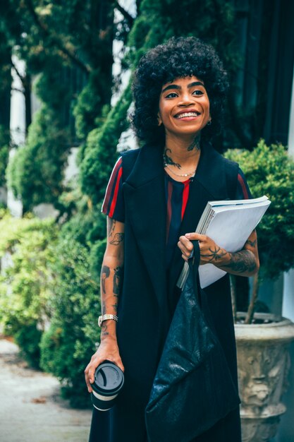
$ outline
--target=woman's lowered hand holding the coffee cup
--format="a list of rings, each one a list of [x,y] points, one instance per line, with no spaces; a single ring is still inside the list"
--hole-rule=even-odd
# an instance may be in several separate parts
[[[118,344],[116,338],[108,336],[104,338],[100,343],[97,352],[95,352],[85,368],[85,381],[89,393],[92,392],[91,383],[94,382],[94,373],[99,364],[104,361],[114,362],[122,371],[125,371],[121,356],[118,350]]]

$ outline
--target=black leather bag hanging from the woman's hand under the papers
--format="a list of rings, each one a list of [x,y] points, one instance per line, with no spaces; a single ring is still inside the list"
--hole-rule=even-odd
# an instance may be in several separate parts
[[[198,243],[194,250],[145,410],[149,442],[192,441],[240,403],[207,306],[197,301]]]

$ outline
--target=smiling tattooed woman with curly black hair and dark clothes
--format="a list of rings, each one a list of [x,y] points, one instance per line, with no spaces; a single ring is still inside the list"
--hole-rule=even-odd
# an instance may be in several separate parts
[[[133,124],[147,144],[118,159],[102,208],[108,226],[102,314],[117,315],[118,322],[103,321],[101,344],[85,369],[89,391],[94,369],[105,359],[125,372],[125,385],[110,412],[94,410],[91,442],[147,442],[145,407],[191,241],[199,241],[200,265],[209,262],[244,276],[258,270],[255,232],[237,253],[195,233],[207,201],[250,198],[238,165],[208,143],[221,127],[227,88],[214,49],[194,37],[172,38],[151,49],[135,72]],[[237,386],[228,275],[207,287],[205,296]],[[238,409],[193,441],[240,441]]]

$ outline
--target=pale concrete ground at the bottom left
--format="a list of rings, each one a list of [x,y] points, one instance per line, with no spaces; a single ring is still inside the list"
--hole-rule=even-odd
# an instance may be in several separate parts
[[[27,368],[18,347],[0,339],[0,442],[87,442],[90,410],[59,398],[59,381]]]

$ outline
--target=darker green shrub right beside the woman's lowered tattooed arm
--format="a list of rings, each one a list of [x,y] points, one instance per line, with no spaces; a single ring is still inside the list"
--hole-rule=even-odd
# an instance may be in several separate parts
[[[60,379],[71,405],[89,406],[84,370],[99,340],[99,285],[90,272],[89,250],[68,230],[59,239],[52,271],[54,313],[42,336],[41,366]]]

